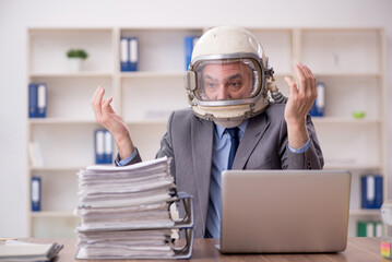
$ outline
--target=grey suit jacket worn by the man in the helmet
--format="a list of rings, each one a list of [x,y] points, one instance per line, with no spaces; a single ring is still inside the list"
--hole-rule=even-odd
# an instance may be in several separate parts
[[[249,119],[233,169],[321,169],[323,158],[310,117],[307,128],[311,140],[305,153],[287,148],[287,127],[283,104],[272,104]],[[195,237],[204,237],[209,209],[214,123],[193,115],[191,108],[170,115],[167,132],[156,157],[173,157],[171,175],[178,191],[193,195]],[[140,162],[138,155],[132,163]],[[180,209],[180,215],[183,211]]]

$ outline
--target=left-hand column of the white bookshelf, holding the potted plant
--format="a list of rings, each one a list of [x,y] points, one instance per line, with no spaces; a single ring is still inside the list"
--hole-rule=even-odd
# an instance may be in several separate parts
[[[115,80],[115,32],[112,28],[29,28],[27,82],[45,82],[47,118],[27,119],[27,141],[37,143],[43,166],[28,165],[31,177],[41,177],[41,211],[31,212],[33,237],[75,237],[79,224],[72,211],[78,204],[75,172],[94,163],[94,120],[88,99],[98,84],[112,95]],[[71,72],[70,48],[88,50],[82,72]],[[27,145],[28,146],[28,145]],[[29,195],[29,194],[28,194]]]

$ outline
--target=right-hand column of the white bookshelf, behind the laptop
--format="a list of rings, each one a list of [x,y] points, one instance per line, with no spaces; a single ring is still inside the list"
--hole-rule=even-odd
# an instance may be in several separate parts
[[[325,84],[325,118],[313,118],[325,168],[353,174],[349,236],[358,221],[380,221],[360,209],[360,176],[383,175],[388,196],[385,35],[382,28],[306,28],[297,32],[299,60]],[[353,111],[366,112],[354,119]]]

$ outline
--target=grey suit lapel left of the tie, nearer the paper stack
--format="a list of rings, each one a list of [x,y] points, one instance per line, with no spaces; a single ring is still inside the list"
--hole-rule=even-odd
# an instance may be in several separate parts
[[[203,225],[205,226],[209,209],[214,124],[212,121],[194,117],[192,119],[191,132],[193,172],[197,181],[195,186],[201,205],[200,209],[202,211]]]

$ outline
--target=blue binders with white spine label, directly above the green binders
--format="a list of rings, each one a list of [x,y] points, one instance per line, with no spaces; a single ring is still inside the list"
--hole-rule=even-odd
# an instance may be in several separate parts
[[[361,207],[380,209],[382,205],[382,176],[367,175],[360,178]]]

